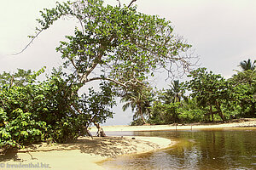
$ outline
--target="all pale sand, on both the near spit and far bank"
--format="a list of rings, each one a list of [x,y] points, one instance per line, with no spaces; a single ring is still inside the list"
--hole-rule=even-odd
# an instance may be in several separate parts
[[[105,132],[192,130],[233,127],[256,127],[256,119],[243,119],[228,123],[189,125],[108,126]],[[91,132],[96,132],[92,127]],[[97,162],[115,156],[140,154],[174,145],[170,139],[158,137],[83,137],[70,144],[33,144],[17,154],[0,157],[0,168],[6,169],[104,169]],[[29,167],[29,168],[27,168]]]

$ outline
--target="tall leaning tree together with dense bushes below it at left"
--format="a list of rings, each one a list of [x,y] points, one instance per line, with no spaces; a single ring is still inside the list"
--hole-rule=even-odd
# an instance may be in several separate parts
[[[117,97],[136,108],[136,118],[144,118],[145,112],[149,116],[148,95],[137,89],[147,89],[156,70],[172,73],[170,65],[188,71],[192,60],[182,54],[191,45],[173,33],[170,21],[138,12],[134,2],[110,6],[102,0],[77,0],[40,11],[36,34],[29,36],[26,48],[56,20],[68,17],[79,25],[56,48],[64,62],[44,81],[37,77],[45,68],[0,75],[2,149],[41,141],[65,143],[91,135],[92,124],[104,136],[100,124],[113,116]],[[89,82],[97,88],[81,94]],[[140,99],[129,103],[127,95]]]

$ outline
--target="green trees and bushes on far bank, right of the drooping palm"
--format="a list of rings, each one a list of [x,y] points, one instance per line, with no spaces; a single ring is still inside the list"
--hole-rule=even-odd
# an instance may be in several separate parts
[[[211,119],[213,122],[214,119],[224,121],[256,116],[255,71],[239,71],[226,81],[224,77],[200,68],[191,71],[189,77],[192,79],[184,85],[174,81],[170,89],[158,94],[149,122],[169,124],[208,122]],[[183,96],[186,89],[190,90],[191,99]]]

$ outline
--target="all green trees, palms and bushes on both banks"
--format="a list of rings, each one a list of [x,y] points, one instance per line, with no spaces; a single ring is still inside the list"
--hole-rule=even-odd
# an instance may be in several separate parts
[[[256,116],[255,61],[242,61],[242,71],[228,80],[206,68],[190,71],[191,45],[173,33],[170,21],[137,12],[134,2],[110,6],[102,0],[77,0],[41,11],[26,48],[63,17],[78,20],[79,26],[56,48],[64,62],[49,75],[45,68],[0,74],[3,151],[91,136],[92,125],[98,136],[105,136],[100,124],[113,117],[117,99],[124,111],[131,107],[134,112],[132,125]],[[150,87],[156,71],[172,76],[174,70],[189,72],[190,80],[175,80],[168,89]],[[40,75],[43,81],[38,81]],[[81,93],[89,82],[97,83],[96,88]]]

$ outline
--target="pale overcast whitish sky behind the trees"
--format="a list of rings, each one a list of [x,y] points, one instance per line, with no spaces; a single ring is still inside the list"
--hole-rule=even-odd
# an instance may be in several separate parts
[[[50,72],[61,65],[61,54],[55,52],[65,35],[73,33],[74,20],[60,20],[44,31],[21,54],[38,26],[36,19],[43,8],[55,7],[55,0],[1,0],[0,5],[0,72],[17,68],[37,71],[43,66]],[[59,2],[62,2],[60,0]],[[120,0],[128,5],[131,1]],[[117,5],[116,0],[105,3]],[[137,0],[137,10],[171,20],[174,31],[189,42],[200,57],[200,67],[207,67],[225,78],[239,69],[240,61],[256,59],[255,0]],[[166,87],[166,77],[158,76],[154,84]],[[163,85],[164,84],[164,85]],[[162,85],[162,86],[161,86]],[[91,85],[93,86],[93,84]],[[131,122],[131,111],[113,109],[116,114],[104,125],[125,125]]]

